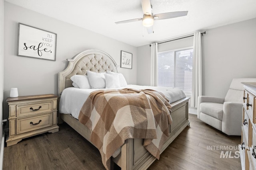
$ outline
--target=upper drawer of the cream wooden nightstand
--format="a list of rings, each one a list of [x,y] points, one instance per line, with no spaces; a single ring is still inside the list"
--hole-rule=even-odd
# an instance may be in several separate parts
[[[18,117],[18,116],[52,111],[52,101],[31,103],[27,105],[17,105],[16,107],[17,107],[16,116]]]

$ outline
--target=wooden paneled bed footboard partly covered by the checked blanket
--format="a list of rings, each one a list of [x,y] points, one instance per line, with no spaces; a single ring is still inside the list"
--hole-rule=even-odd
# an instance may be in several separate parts
[[[161,153],[172,143],[172,141],[190,125],[188,120],[188,100],[184,98],[172,103],[172,124],[169,127],[169,138],[164,143]],[[147,169],[156,160],[144,147],[143,139],[128,139],[122,146],[121,153],[112,158],[122,170]]]

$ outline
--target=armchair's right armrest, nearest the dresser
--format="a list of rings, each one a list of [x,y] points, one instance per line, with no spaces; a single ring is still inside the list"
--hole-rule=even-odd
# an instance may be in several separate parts
[[[222,132],[227,135],[241,135],[242,108],[242,103],[224,102]]]

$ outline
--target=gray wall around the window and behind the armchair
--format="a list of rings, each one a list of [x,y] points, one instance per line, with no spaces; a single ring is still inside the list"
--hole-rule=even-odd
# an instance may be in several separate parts
[[[202,36],[203,95],[225,97],[233,78],[256,78],[255,30],[256,18],[206,30]],[[188,41],[171,42],[176,43],[170,44],[172,49],[189,45]],[[158,45],[158,51],[168,50],[166,45]],[[145,76],[150,73],[150,51],[149,45],[138,47],[138,84],[150,84],[150,76]]]

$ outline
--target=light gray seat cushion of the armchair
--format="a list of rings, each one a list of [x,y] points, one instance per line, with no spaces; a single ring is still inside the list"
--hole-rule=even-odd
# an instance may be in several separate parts
[[[210,115],[222,121],[223,104],[204,102],[200,104],[200,112]]]

